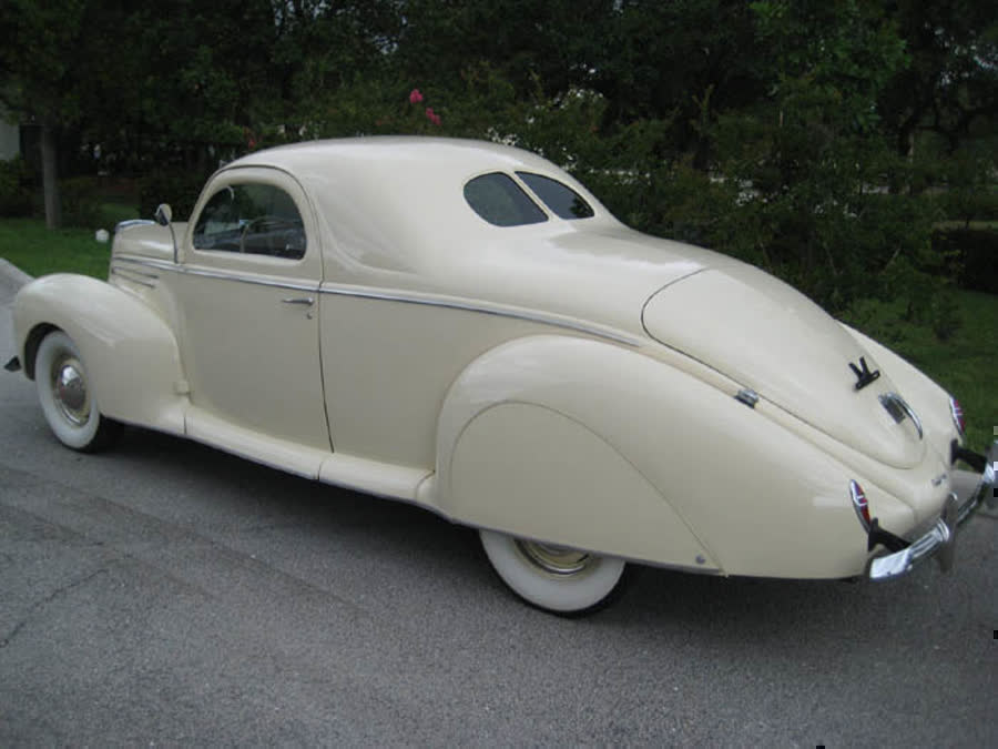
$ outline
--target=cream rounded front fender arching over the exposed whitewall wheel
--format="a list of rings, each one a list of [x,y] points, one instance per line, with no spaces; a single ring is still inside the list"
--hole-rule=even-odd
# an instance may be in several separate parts
[[[176,338],[140,300],[89,276],[48,275],[18,292],[13,324],[29,378],[41,338],[62,330],[80,350],[101,413],[183,434],[187,399],[177,394],[184,377]]]

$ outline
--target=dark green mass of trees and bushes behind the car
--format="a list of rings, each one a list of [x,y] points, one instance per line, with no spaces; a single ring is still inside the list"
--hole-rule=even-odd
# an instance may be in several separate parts
[[[994,223],[975,222],[998,219],[994,10],[7,0],[0,100],[55,148],[0,165],[0,211],[40,210],[45,159],[77,178],[63,217],[85,222],[80,179],[99,172],[139,178],[143,213],[171,200],[183,216],[203,180],[248,150],[383,133],[503,140],[569,169],[639,230],[761,265],[854,322],[894,315],[946,336],[948,285],[991,290],[979,280]]]

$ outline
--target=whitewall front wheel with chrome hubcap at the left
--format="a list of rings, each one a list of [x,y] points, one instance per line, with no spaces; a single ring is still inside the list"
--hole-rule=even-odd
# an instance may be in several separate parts
[[[49,333],[39,345],[34,384],[49,427],[67,447],[93,453],[121,434],[121,423],[101,415],[80,352],[62,331]]]

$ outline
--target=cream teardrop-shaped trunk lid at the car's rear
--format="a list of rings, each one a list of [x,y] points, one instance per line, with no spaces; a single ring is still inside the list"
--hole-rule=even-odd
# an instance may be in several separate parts
[[[660,343],[721,372],[833,438],[898,468],[925,443],[879,402],[890,378],[856,389],[849,363],[877,362],[842,325],[787,284],[735,261],[704,269],[649,297],[642,323]]]

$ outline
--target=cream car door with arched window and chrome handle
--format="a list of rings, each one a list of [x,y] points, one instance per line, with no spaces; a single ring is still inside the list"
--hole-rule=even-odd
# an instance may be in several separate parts
[[[195,432],[200,418],[330,449],[320,281],[322,247],[301,185],[263,168],[216,175],[192,214],[179,279]]]

